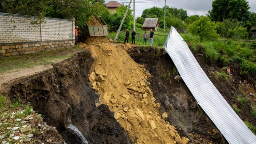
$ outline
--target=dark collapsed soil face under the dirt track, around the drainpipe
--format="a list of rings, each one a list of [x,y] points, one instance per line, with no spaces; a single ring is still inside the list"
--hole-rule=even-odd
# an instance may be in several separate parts
[[[30,102],[44,120],[59,131],[59,109],[70,106],[72,124],[89,143],[132,143],[124,129],[104,104],[96,107],[99,96],[88,84],[87,74],[93,58],[89,51],[75,54],[70,59],[53,65],[52,69],[21,78],[8,84],[5,95],[21,102]],[[57,105],[57,106],[56,106]],[[67,143],[74,143],[62,133]]]

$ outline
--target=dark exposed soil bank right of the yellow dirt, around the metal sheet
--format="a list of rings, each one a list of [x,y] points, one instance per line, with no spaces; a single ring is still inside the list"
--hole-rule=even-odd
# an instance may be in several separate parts
[[[129,54],[152,74],[149,80],[150,87],[155,92],[155,98],[161,103],[161,112],[168,113],[167,120],[176,125],[181,136],[186,136],[192,143],[227,143],[224,136],[218,132],[216,126],[198,105],[186,84],[182,80],[175,82],[173,74],[175,66],[168,54],[162,50],[157,52],[156,49],[142,48],[132,49]],[[201,66],[204,66],[205,73],[208,75],[212,70],[214,71],[214,68],[205,65],[202,58],[197,57],[197,60],[203,63]],[[212,77],[211,81],[229,104],[233,103],[231,91],[241,93],[235,86],[232,86],[233,84],[219,82],[215,77]],[[252,120],[251,116],[246,118],[243,114],[239,116],[243,120],[246,118]]]

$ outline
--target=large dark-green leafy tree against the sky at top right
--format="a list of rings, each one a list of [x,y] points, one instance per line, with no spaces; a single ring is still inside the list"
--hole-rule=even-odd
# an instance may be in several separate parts
[[[214,0],[212,10],[209,11],[213,21],[224,21],[224,19],[238,19],[247,21],[250,9],[246,0]]]

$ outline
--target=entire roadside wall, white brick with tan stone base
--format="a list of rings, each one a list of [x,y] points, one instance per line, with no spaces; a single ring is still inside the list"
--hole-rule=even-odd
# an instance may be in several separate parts
[[[33,18],[0,13],[0,57],[74,45],[74,21],[45,18],[45,23],[34,26],[30,24]]]

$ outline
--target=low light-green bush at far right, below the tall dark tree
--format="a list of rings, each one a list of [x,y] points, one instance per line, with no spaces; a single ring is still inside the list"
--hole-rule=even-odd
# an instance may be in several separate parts
[[[236,26],[234,29],[228,29],[227,36],[232,39],[248,39],[247,29],[241,26]]]

